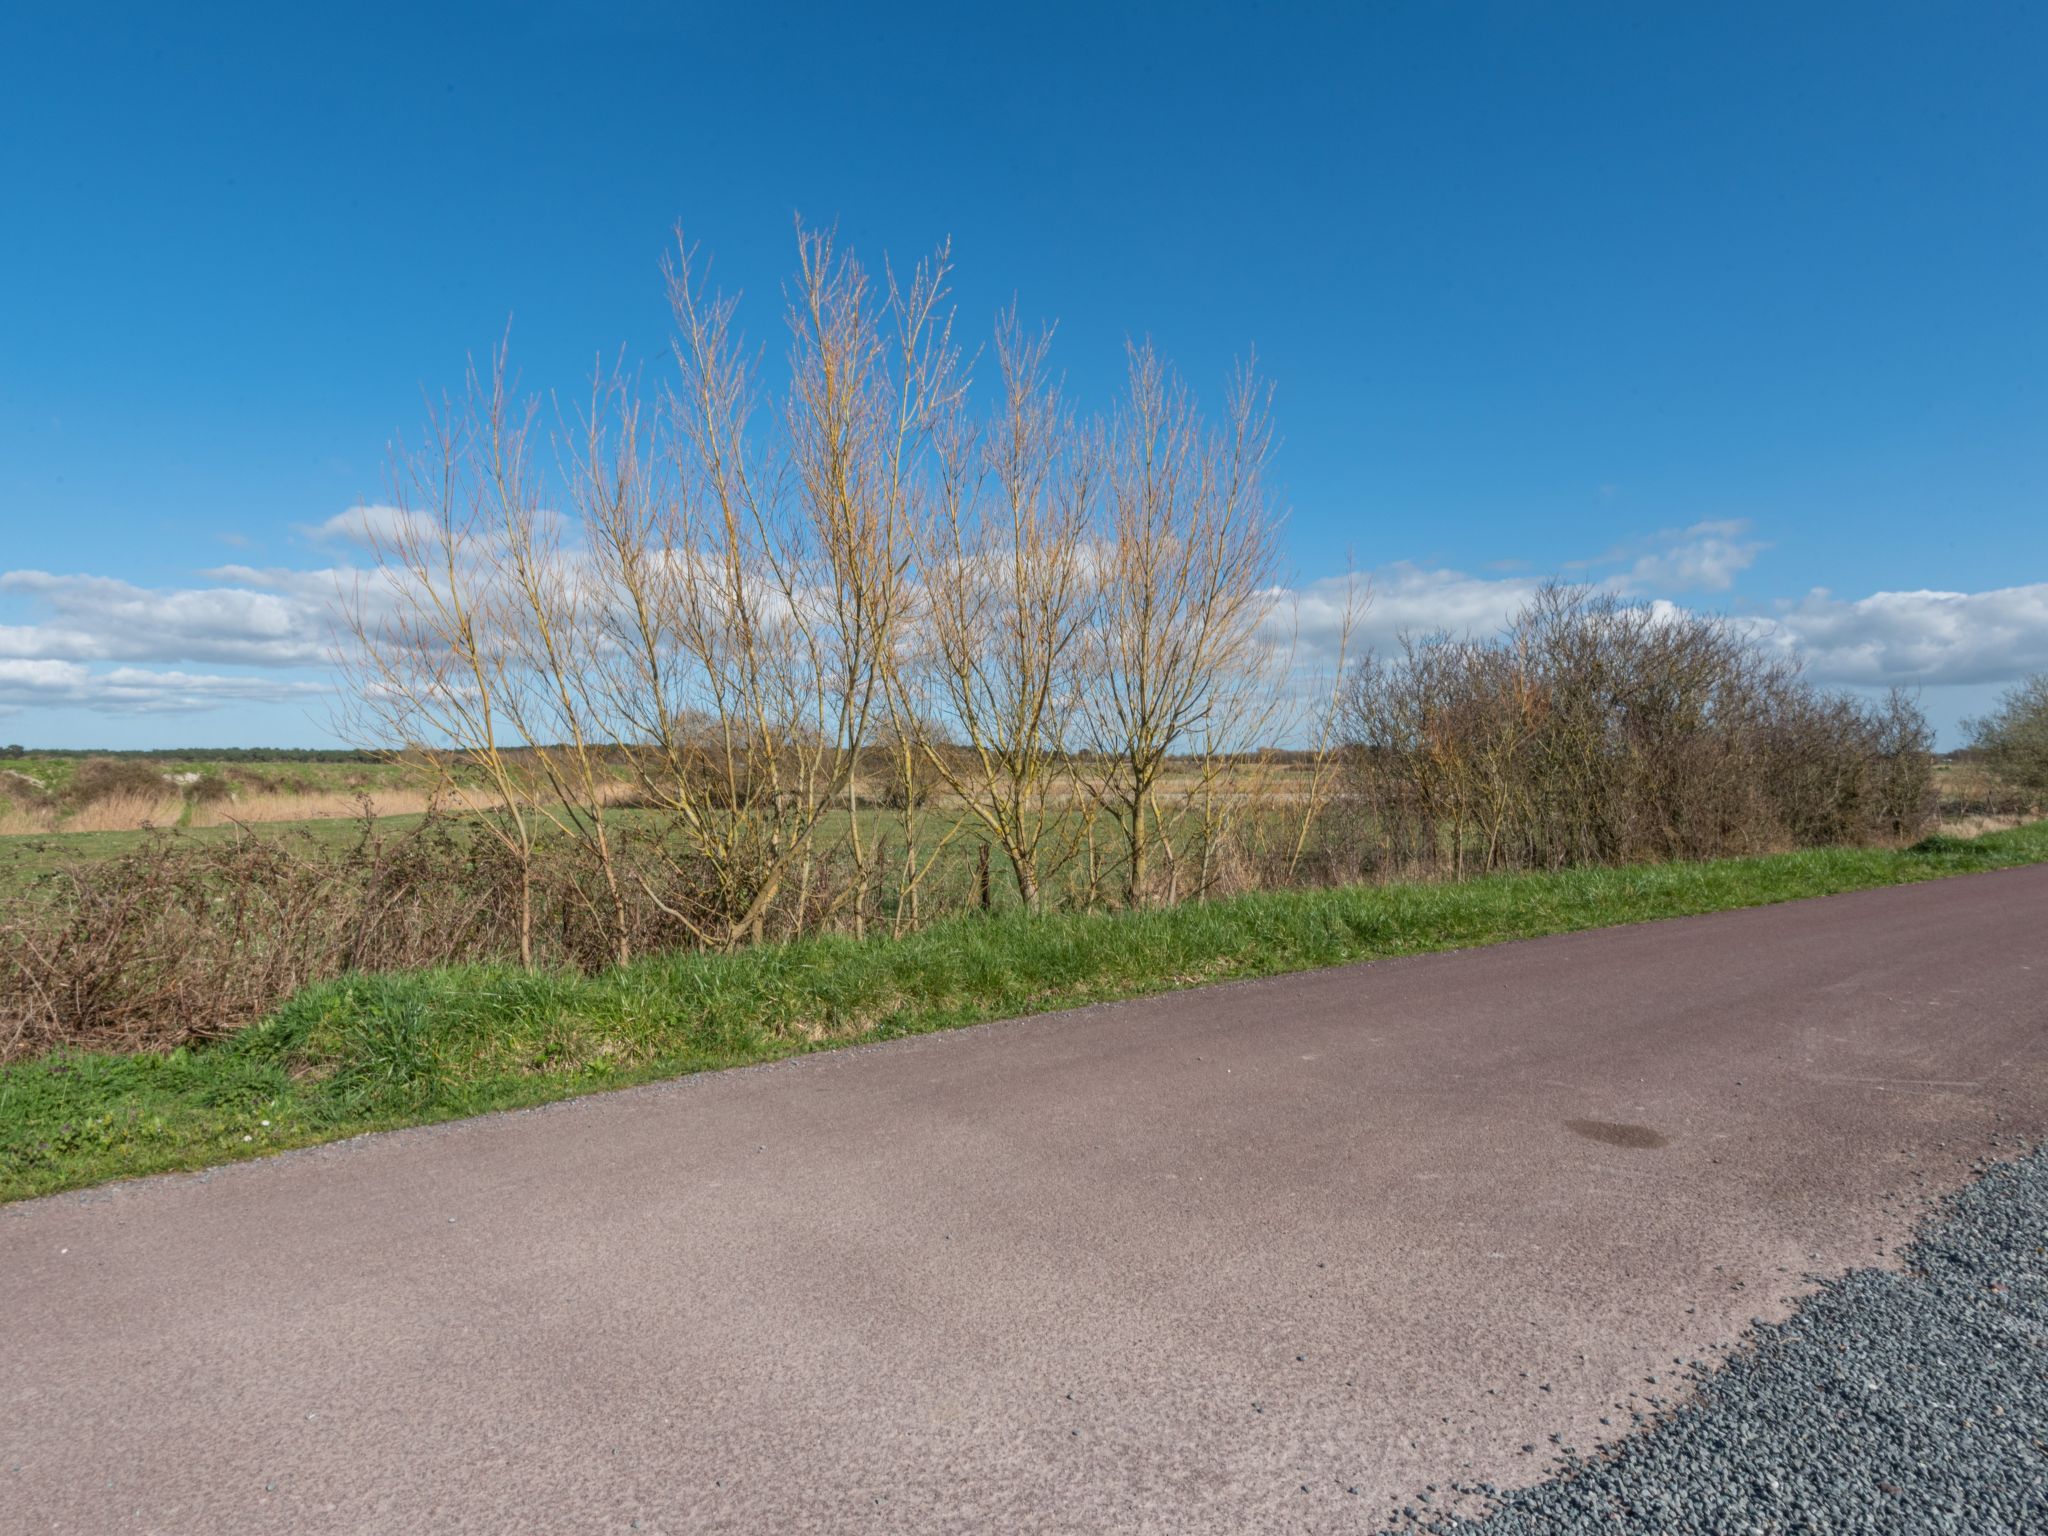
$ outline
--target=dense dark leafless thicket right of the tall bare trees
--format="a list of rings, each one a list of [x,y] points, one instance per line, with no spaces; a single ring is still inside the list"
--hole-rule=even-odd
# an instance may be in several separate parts
[[[1931,809],[1903,694],[1825,692],[1712,614],[1546,588],[1487,639],[1362,664],[1350,778],[1372,862],[1466,874],[1898,840]]]

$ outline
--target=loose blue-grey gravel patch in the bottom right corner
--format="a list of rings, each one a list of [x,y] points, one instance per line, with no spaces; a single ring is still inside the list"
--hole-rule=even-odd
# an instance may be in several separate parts
[[[2048,1532],[2048,1147],[1987,1167],[1898,1260],[1757,1325],[1645,1432],[1395,1530]],[[1487,1516],[1430,1509],[1475,1497]]]

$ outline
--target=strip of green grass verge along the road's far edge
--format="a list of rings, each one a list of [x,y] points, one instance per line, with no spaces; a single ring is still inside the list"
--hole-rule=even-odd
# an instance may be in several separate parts
[[[641,961],[598,977],[344,977],[221,1044],[0,1071],[0,1198],[1233,977],[2048,860],[2048,823],[1903,852],[1255,895],[1169,911],[967,918]]]

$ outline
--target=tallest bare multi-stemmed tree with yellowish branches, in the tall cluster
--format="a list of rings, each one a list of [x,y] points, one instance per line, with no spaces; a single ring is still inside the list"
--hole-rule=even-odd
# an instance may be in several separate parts
[[[752,428],[735,303],[700,287],[680,238],[668,276],[666,430],[614,406],[610,449],[586,455],[602,465],[586,522],[606,713],[682,860],[645,895],[715,946],[760,938],[778,905],[795,930],[846,909],[858,932],[879,885],[858,766],[905,623],[915,459],[958,389],[946,256],[877,297],[827,233],[799,229],[778,453]],[[850,881],[827,889],[840,852]]]

